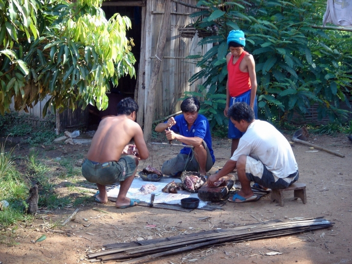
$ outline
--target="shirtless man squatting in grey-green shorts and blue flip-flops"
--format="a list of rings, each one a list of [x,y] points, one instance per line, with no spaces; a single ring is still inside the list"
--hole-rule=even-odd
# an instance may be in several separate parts
[[[99,191],[94,195],[97,202],[107,203],[105,186],[120,182],[115,203],[120,209],[139,203],[138,199],[127,198],[126,195],[138,160],[149,156],[142,129],[135,122],[137,111],[138,105],[132,98],[121,100],[117,105],[117,115],[106,117],[99,123],[82,164],[82,175],[98,186]],[[132,139],[135,145],[129,144]]]

